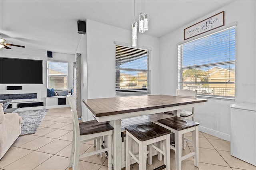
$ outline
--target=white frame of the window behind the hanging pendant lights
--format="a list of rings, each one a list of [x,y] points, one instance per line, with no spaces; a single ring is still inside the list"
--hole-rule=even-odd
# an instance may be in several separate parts
[[[115,81],[115,94],[116,96],[135,96],[135,95],[148,95],[151,93],[151,88],[150,88],[150,56],[151,56],[151,49],[148,47],[132,47],[131,45],[128,45],[126,43],[120,43],[120,42],[115,42],[115,51],[117,51],[117,46],[124,47],[124,48],[129,48],[129,49],[135,49],[136,50],[146,50],[147,51],[147,69],[138,69],[138,68],[120,68],[116,65],[115,70],[116,70],[116,81]],[[117,53],[115,54],[115,62],[117,63]],[[146,72],[147,73],[147,83],[145,89],[138,88],[138,89],[118,89],[117,83],[118,81],[118,73],[117,71],[137,71],[138,72]],[[120,75],[119,75],[120,76]],[[119,82],[120,83],[120,82]]]

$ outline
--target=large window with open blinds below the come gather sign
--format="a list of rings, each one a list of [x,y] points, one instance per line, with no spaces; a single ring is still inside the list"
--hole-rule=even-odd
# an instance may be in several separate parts
[[[178,45],[178,88],[234,100],[235,26]]]

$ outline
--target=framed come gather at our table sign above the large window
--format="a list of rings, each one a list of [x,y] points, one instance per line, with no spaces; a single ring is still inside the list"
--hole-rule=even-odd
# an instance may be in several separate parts
[[[184,29],[184,40],[224,26],[224,11]]]

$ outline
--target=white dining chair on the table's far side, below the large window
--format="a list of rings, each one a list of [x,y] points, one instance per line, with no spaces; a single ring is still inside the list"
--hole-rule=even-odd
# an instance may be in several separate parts
[[[196,95],[197,95],[197,90],[192,91],[192,90],[179,90],[176,89],[176,96],[177,97],[189,97],[189,98],[194,98],[196,99]],[[192,118],[192,121],[195,121],[195,111],[196,108],[192,107],[192,108],[188,108],[190,110],[180,110],[180,117],[183,117],[185,119],[190,119]],[[169,111],[169,112],[164,112],[164,113],[168,113],[171,115],[174,115],[174,111]],[[183,137],[186,138],[186,134],[183,134]],[[186,141],[183,140],[183,149],[186,149]]]

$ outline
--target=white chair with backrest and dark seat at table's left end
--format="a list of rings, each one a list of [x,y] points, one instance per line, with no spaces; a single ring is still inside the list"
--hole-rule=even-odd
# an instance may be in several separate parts
[[[98,123],[98,121],[86,121],[78,122],[78,115],[76,111],[76,105],[73,96],[68,93],[66,96],[68,103],[71,107],[72,119],[73,119],[73,139],[72,139],[72,148],[70,155],[69,167],[73,170],[78,169],[78,160],[87,156],[94,154],[100,154],[102,158],[103,152],[108,152],[108,170],[112,170],[112,154],[111,154],[111,143],[112,143],[112,134],[113,127],[106,122]],[[100,146],[103,145],[102,137],[106,136],[107,146],[99,147],[96,151],[84,153],[79,155],[80,142],[88,142],[91,140],[100,141]]]

